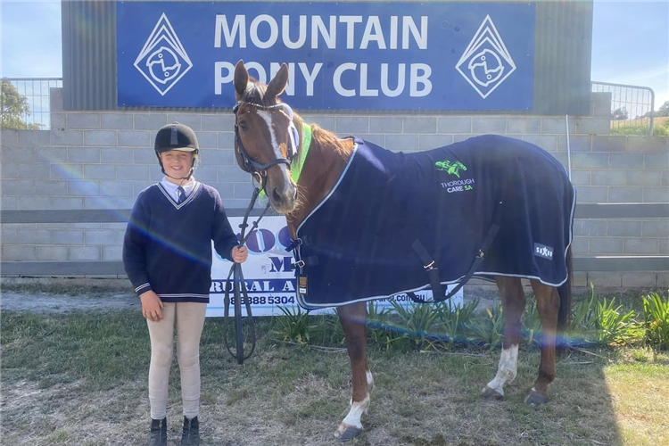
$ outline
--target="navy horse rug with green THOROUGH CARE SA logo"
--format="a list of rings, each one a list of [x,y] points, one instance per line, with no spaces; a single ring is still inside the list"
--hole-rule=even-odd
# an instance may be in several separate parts
[[[442,284],[457,283],[493,223],[499,233],[475,276],[566,281],[575,190],[540,147],[492,135],[417,153],[355,143],[335,188],[297,228],[302,307],[429,287],[415,240],[431,254]]]

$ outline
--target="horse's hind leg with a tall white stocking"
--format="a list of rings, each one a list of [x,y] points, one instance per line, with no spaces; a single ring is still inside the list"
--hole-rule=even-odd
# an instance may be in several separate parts
[[[520,324],[525,308],[525,293],[518,277],[495,277],[500,289],[502,310],[504,311],[504,342],[500,355],[497,375],[481,392],[481,396],[491,400],[504,398],[504,384],[516,378],[518,367],[518,344]]]

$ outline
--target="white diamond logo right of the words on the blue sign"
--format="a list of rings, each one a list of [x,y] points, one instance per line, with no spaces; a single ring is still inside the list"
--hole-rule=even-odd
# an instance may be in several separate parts
[[[485,16],[455,68],[483,99],[516,70],[490,15]]]

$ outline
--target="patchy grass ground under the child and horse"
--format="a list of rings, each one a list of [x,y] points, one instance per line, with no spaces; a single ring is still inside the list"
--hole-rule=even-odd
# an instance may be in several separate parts
[[[338,444],[332,433],[351,398],[346,353],[277,342],[272,320],[262,318],[258,349],[238,366],[222,346],[222,322],[208,319],[202,334],[202,444]],[[642,349],[596,353],[572,351],[560,359],[552,401],[533,409],[523,399],[539,351],[526,344],[501,402],[478,397],[495,374],[499,349],[372,348],[376,388],[365,433],[352,444],[668,444],[669,356]],[[0,312],[3,442],[143,444],[149,355],[136,311]],[[173,443],[181,417],[176,363],[170,382]]]

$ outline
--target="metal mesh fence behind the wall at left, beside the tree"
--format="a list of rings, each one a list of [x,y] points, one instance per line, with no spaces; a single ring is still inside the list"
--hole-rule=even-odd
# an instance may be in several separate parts
[[[26,128],[51,128],[51,88],[62,87],[62,78],[0,78],[0,81],[9,82],[26,98],[28,110],[17,117]]]

